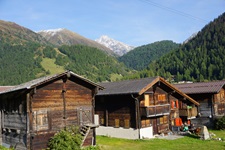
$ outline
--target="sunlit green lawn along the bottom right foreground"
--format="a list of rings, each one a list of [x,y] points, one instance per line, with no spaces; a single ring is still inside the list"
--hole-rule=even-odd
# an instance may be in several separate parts
[[[210,131],[225,139],[225,131]],[[218,135],[217,135],[218,134]],[[200,140],[196,136],[185,136],[176,140],[148,139],[128,140],[97,136],[97,145],[101,150],[222,150],[224,141]]]

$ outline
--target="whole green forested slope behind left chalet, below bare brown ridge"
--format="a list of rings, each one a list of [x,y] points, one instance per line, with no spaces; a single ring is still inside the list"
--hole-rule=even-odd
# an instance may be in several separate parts
[[[52,70],[43,66],[47,58],[53,62]],[[56,65],[95,82],[119,80],[129,71],[114,57],[83,45],[55,49],[37,43],[11,45],[0,42],[0,64],[0,85],[17,85],[55,73]]]

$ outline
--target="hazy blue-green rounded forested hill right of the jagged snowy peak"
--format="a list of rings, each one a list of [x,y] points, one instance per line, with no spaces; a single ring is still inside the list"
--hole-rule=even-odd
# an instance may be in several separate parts
[[[169,53],[179,47],[179,44],[173,41],[159,41],[152,44],[139,46],[127,54],[119,57],[119,61],[123,62],[127,67],[142,70],[145,69],[153,60],[159,59],[161,56]]]

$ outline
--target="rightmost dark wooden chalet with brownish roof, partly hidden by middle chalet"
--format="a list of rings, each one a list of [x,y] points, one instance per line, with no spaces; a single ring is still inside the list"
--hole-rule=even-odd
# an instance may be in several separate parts
[[[225,81],[175,84],[200,103],[199,114],[192,123],[213,127],[214,119],[225,115]]]

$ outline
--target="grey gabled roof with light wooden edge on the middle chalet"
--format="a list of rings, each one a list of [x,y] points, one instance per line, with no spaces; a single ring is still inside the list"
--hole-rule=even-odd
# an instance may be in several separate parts
[[[171,91],[175,91],[178,95],[184,97],[195,105],[199,105],[194,99],[186,95],[185,93],[178,90],[175,86],[167,82],[161,77],[142,78],[135,80],[126,80],[119,82],[105,82],[100,83],[105,89],[98,92],[98,96],[103,95],[120,95],[120,94],[138,94],[141,95],[146,92],[149,88],[155,85],[157,82],[163,83],[169,87]]]

